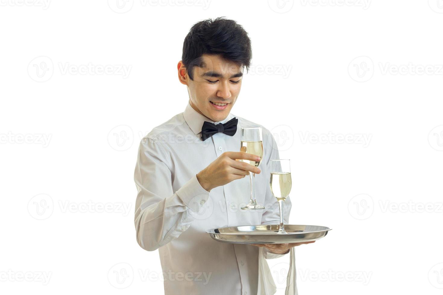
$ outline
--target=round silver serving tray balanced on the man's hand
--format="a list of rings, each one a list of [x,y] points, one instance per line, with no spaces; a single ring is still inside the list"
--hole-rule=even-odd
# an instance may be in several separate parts
[[[284,244],[316,241],[331,229],[326,226],[285,224],[286,234],[277,234],[278,224],[231,226],[206,231],[216,241],[234,244]]]

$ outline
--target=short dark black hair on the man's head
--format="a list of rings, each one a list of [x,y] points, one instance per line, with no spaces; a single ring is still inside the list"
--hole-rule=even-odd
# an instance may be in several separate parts
[[[220,54],[248,70],[252,58],[251,40],[235,20],[205,19],[191,27],[183,42],[182,62],[191,80],[194,80],[194,66],[202,66],[203,54]]]

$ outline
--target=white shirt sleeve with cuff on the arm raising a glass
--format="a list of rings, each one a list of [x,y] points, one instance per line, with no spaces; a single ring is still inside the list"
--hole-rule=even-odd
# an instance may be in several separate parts
[[[141,140],[134,171],[137,188],[134,223],[137,242],[148,251],[178,238],[194,220],[190,211],[198,212],[203,206],[200,202],[209,198],[209,192],[196,176],[174,193],[170,165],[168,153],[160,142],[155,138]]]

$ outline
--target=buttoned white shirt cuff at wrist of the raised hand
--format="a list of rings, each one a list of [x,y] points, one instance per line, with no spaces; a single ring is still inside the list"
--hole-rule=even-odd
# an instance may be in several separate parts
[[[197,174],[184,184],[176,194],[191,210],[198,212],[209,199],[209,192],[198,182]]]

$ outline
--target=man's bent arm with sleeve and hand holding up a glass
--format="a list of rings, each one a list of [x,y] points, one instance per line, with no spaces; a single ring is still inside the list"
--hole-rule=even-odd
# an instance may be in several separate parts
[[[244,178],[260,169],[244,159],[256,161],[256,155],[225,152],[193,176],[177,192],[172,191],[171,153],[153,137],[140,142],[134,180],[137,187],[135,227],[137,242],[153,251],[178,238],[194,221],[190,214],[198,212],[209,198],[211,189]]]

